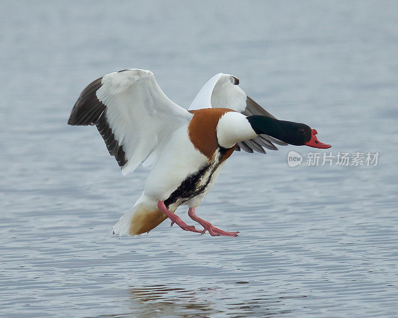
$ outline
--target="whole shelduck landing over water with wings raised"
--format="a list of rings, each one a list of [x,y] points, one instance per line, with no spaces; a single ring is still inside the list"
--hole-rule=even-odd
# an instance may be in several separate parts
[[[237,77],[216,74],[189,109],[172,102],[148,70],[109,73],[82,91],[68,124],[95,125],[123,176],[140,165],[152,167],[113,234],[147,233],[169,218],[185,231],[236,237],[239,231],[219,229],[195,212],[234,151],[266,153],[264,148],[277,150],[275,144],[331,147],[308,125],[278,120],[238,85]],[[185,223],[175,213],[179,206],[188,206],[203,229]]]

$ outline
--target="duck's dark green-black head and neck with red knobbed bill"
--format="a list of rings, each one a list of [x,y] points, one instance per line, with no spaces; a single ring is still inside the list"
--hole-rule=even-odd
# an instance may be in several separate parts
[[[320,149],[331,147],[331,145],[320,142],[316,138],[318,132],[303,123],[278,120],[262,115],[248,116],[247,120],[257,134],[266,134],[291,145],[306,145]]]

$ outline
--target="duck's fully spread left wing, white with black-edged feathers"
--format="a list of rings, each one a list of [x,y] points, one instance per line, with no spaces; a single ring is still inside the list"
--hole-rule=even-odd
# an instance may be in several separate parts
[[[123,175],[154,163],[171,134],[192,114],[162,92],[150,71],[109,73],[87,86],[68,124],[96,125]]]

